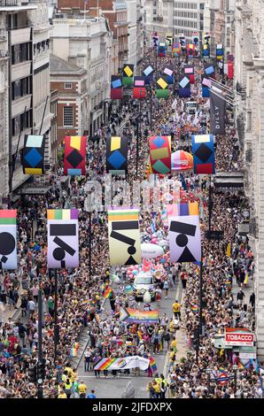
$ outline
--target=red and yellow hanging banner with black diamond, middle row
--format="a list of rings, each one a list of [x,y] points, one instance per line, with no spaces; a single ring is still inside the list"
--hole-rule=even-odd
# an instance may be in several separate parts
[[[85,175],[86,136],[66,135],[64,140],[64,174]]]

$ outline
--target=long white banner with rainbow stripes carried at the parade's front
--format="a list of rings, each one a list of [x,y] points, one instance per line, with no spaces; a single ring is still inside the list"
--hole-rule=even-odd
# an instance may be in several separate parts
[[[124,358],[103,358],[94,367],[94,370],[127,370],[128,368],[140,368],[146,370],[150,366],[150,360],[139,356]]]

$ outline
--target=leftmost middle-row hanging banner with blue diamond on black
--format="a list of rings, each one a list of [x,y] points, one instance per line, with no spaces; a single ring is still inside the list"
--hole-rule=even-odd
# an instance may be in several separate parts
[[[45,139],[43,135],[25,135],[22,166],[25,174],[44,174]]]

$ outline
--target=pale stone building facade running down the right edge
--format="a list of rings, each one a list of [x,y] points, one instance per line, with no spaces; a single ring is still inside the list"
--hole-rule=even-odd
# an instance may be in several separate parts
[[[236,119],[245,158],[250,203],[250,244],[255,258],[256,334],[264,358],[264,8],[260,0],[236,3]]]

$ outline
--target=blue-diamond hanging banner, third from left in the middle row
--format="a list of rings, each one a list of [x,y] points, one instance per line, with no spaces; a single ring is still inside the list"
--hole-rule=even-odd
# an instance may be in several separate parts
[[[128,138],[106,138],[106,172],[112,174],[128,173]]]

